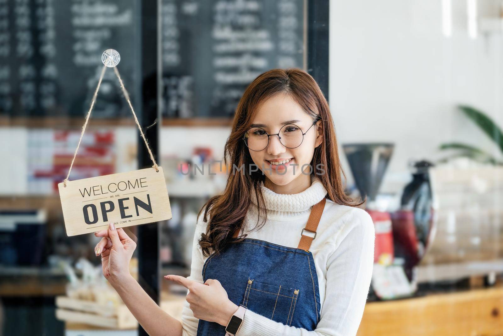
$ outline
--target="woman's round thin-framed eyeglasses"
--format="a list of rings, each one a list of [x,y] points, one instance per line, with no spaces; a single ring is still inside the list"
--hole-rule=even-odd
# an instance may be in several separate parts
[[[252,151],[260,152],[267,148],[269,145],[269,137],[278,136],[280,143],[286,148],[297,148],[302,144],[304,135],[319,119],[313,121],[311,126],[302,132],[296,124],[286,124],[281,127],[280,131],[276,134],[268,134],[263,128],[251,127],[243,136],[244,143]]]

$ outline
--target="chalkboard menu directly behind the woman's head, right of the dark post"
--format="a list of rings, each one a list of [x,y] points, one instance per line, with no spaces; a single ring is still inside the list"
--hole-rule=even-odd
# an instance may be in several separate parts
[[[230,117],[275,68],[304,69],[304,0],[162,0],[163,115]]]

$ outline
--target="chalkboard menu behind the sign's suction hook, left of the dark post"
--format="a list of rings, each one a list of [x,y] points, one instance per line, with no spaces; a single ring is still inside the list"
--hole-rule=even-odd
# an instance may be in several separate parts
[[[118,69],[134,102],[135,6],[134,0],[0,0],[0,115],[85,116],[108,48],[121,53]],[[129,116],[126,104],[108,71],[93,118]]]

